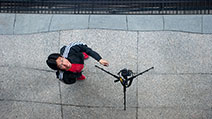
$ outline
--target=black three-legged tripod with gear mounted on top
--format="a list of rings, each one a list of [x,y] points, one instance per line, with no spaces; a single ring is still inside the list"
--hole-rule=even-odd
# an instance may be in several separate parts
[[[104,70],[103,68],[101,68],[97,65],[95,65],[95,67],[97,67],[97,68],[101,69],[102,71],[104,71],[104,72],[110,74],[111,76],[115,77],[116,78],[116,80],[114,80],[115,83],[120,81],[120,83],[123,86],[123,92],[124,92],[124,110],[126,110],[126,89],[131,86],[133,79],[136,78],[139,75],[142,75],[145,72],[148,72],[151,69],[154,69],[154,67],[151,67],[151,68],[149,68],[149,69],[147,69],[147,70],[145,70],[141,73],[133,75],[132,70],[128,70],[128,69],[124,68],[121,71],[119,71],[119,73],[118,73],[119,76],[117,76],[117,75],[110,73],[109,71]]]

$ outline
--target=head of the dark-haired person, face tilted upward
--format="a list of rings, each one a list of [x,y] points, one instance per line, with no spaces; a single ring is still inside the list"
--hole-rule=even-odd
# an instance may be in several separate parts
[[[50,54],[46,63],[53,70],[68,70],[71,68],[71,63],[59,53]]]

